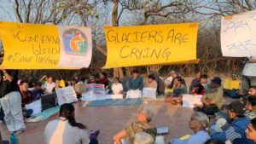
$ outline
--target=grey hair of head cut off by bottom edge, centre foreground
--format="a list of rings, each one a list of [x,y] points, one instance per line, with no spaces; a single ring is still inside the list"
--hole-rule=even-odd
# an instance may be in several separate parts
[[[133,144],[154,144],[154,138],[145,132],[138,132],[134,136]]]

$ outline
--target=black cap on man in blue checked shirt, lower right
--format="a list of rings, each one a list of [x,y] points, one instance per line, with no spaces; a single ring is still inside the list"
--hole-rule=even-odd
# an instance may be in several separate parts
[[[233,101],[226,108],[231,112],[235,112],[239,115],[244,115],[244,112],[246,111],[246,107],[244,106],[243,103],[241,103],[241,101]]]

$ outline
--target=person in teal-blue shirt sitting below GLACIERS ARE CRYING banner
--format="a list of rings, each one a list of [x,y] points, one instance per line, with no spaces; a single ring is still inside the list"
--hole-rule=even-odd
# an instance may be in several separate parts
[[[138,70],[132,71],[132,77],[129,81],[130,90],[141,90],[143,91],[143,78],[138,75]]]

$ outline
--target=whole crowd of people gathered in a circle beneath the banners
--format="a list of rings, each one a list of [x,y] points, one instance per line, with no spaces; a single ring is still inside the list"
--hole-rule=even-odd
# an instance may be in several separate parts
[[[256,60],[248,60],[241,77],[241,89],[236,90],[236,101],[224,105],[223,80],[213,77],[208,80],[207,74],[196,72],[189,87],[183,77],[171,71],[167,78],[160,78],[158,73],[148,75],[145,83],[138,70],[128,78],[108,79],[107,73],[99,77],[80,78],[75,73],[69,82],[61,78],[43,76],[38,80],[28,82],[18,79],[18,71],[1,70],[0,74],[0,120],[7,125],[11,133],[19,134],[26,130],[24,119],[32,116],[32,110],[26,105],[39,100],[46,94],[55,93],[56,89],[76,84],[104,84],[106,93],[125,95],[129,90],[142,92],[143,88],[156,89],[156,95],[164,96],[165,102],[180,106],[183,95],[202,95],[201,104],[195,104],[194,112],[189,120],[189,129],[194,132],[188,139],[170,140],[171,144],[253,144],[256,143]],[[237,80],[232,74],[231,78]],[[230,94],[230,91],[229,91]],[[137,122],[128,124],[113,136],[115,144],[128,142],[130,144],[154,144],[157,135],[156,128],[150,124],[154,118],[154,109],[143,107],[137,112]],[[44,130],[44,142],[47,144],[96,144],[99,131],[88,134],[84,124],[75,120],[73,104],[63,104],[60,108],[60,118],[50,121]],[[1,138],[1,136],[0,136]],[[0,141],[2,141],[0,139]]]

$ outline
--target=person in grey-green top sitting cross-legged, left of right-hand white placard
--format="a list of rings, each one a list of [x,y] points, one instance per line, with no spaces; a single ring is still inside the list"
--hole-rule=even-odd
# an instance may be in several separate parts
[[[181,83],[180,77],[174,78],[173,92],[165,95],[165,101],[173,105],[181,105],[182,95],[188,94],[187,87]]]

